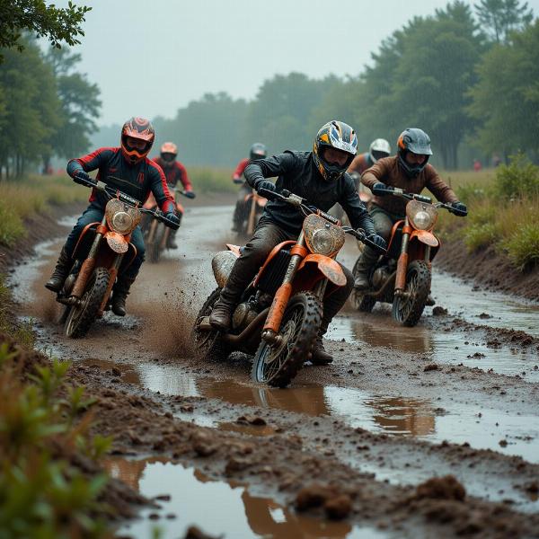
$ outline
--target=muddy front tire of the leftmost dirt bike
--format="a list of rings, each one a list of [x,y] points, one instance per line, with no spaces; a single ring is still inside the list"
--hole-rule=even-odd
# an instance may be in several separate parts
[[[99,313],[103,296],[109,287],[110,274],[105,268],[93,270],[93,274],[86,284],[79,306],[72,306],[66,316],[64,329],[67,337],[79,339],[90,329]]]

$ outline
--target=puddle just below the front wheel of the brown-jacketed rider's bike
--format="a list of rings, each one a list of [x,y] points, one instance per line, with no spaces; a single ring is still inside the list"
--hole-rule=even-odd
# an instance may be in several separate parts
[[[327,338],[346,340],[364,348],[389,348],[421,354],[436,363],[491,369],[499,375],[521,376],[527,382],[539,382],[539,356],[526,349],[494,349],[476,336],[460,331],[432,330],[420,323],[403,328],[394,323],[391,313],[381,308],[372,314],[337,316]]]

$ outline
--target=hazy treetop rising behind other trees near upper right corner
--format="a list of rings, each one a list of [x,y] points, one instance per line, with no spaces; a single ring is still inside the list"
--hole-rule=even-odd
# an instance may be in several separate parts
[[[521,5],[520,0],[481,0],[475,10],[490,40],[496,43],[506,43],[512,31],[526,27],[534,18],[527,2]]]

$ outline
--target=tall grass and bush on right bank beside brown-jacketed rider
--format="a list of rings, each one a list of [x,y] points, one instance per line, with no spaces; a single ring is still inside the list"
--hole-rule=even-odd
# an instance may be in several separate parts
[[[520,271],[539,263],[539,166],[515,156],[508,166],[446,175],[468,217],[440,213],[438,230],[469,252],[493,247]]]

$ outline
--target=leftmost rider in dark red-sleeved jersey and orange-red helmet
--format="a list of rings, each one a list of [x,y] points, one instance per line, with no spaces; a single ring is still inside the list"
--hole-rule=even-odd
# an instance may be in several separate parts
[[[128,119],[121,128],[119,147],[99,148],[92,154],[72,159],[67,163],[67,173],[76,183],[86,185],[88,182],[95,183],[88,172],[97,169],[97,180],[104,181],[108,186],[140,200],[141,205],[152,192],[164,216],[179,226],[180,219],[175,213],[174,199],[168,190],[163,171],[147,157],[154,139],[154,127],[147,119]],[[74,263],[72,256],[76,242],[84,227],[90,223],[101,223],[108,198],[99,190],[93,189],[89,202],[90,205],[67,236],[56,268],[45,284],[45,287],[53,292],[59,292],[64,286],[64,281]],[[127,270],[119,274],[112,289],[112,312],[118,316],[126,314],[129,288],[137,278],[138,270],[144,261],[144,240],[139,226],[131,235],[131,243],[137,249],[137,256]]]

